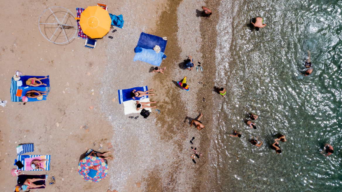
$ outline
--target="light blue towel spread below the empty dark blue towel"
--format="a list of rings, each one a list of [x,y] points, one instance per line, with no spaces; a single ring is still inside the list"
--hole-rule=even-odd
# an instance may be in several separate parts
[[[163,60],[163,52],[156,53],[156,51],[154,51],[153,49],[141,49],[142,52],[135,53],[133,61],[140,60],[155,66],[160,66],[161,61]]]

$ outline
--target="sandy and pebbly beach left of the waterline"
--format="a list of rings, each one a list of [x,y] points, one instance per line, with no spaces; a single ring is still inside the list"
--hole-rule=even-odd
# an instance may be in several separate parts
[[[76,16],[76,8],[96,3],[34,0],[3,9],[0,98],[8,102],[0,108],[0,188],[13,190],[17,177],[10,170],[16,168],[15,148],[33,142],[35,152],[27,154],[51,155],[49,171],[23,172],[49,175],[47,187],[33,191],[208,191],[214,178],[209,158],[217,125],[214,108],[222,99],[213,90],[219,14],[205,18],[198,12],[206,5],[215,13],[220,2],[101,2],[109,13],[123,15],[124,26],[114,27],[117,31],[99,39],[95,49],[84,47],[85,40],[79,37],[56,45],[40,34],[38,19],[45,9],[62,6]],[[167,58],[161,64],[167,67],[165,74],[151,73],[150,64],[133,62],[141,31],[167,37]],[[201,63],[203,72],[182,68],[188,55],[194,57],[195,66]],[[16,70],[49,75],[48,99],[25,105],[11,102],[10,84]],[[184,76],[189,92],[176,85]],[[152,109],[147,119],[129,119],[139,113],[124,115],[117,90],[146,85],[155,90],[149,98],[157,101],[153,106],[161,112]],[[200,113],[206,126],[202,131],[189,126]],[[194,145],[189,142],[192,137]],[[203,154],[196,164],[189,158],[191,146]],[[108,176],[98,183],[84,181],[77,172],[80,155],[88,149],[112,153]],[[52,176],[56,181],[49,185]]]

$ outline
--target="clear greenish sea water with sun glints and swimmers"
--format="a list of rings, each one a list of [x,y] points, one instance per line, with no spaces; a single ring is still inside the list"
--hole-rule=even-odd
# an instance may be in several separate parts
[[[226,83],[229,98],[211,156],[218,191],[342,191],[342,1],[227,2],[221,14],[236,8],[236,16],[219,22],[227,27],[221,36],[233,38],[219,39],[217,84]],[[251,30],[255,16],[267,26]],[[314,70],[303,77],[307,50]],[[251,112],[257,130],[245,123]],[[228,137],[234,129],[241,138]],[[288,141],[276,154],[270,146],[279,133]],[[329,157],[320,154],[326,142]]]

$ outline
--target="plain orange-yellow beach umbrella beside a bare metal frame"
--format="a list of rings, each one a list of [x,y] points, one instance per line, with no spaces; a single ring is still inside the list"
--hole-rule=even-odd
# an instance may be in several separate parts
[[[80,26],[90,38],[102,38],[110,30],[111,19],[108,11],[100,6],[89,6],[81,13]]]

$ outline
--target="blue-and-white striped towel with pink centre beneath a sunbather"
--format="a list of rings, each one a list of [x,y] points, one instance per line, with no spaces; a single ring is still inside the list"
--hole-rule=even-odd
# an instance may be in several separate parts
[[[33,159],[39,159],[39,160],[47,159],[48,161],[44,161],[43,166],[44,166],[44,170],[48,171],[50,170],[50,158],[51,158],[51,155],[18,155],[17,161],[21,161],[24,167],[19,169],[19,167],[17,166],[17,169],[22,170],[22,171],[39,171],[41,169],[32,169],[30,167],[30,163],[32,162]]]

